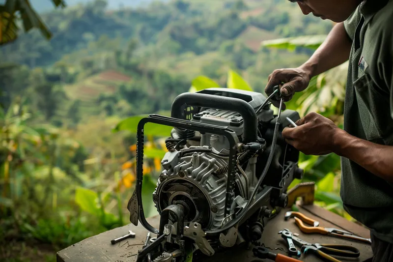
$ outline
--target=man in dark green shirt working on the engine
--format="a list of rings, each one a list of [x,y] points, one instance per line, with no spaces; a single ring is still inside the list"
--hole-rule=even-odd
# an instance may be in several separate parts
[[[265,92],[285,83],[280,91],[288,101],[349,58],[343,130],[310,113],[282,136],[305,154],[341,156],[344,208],[370,229],[372,261],[393,262],[393,0],[296,2],[305,15],[337,24],[303,65],[275,70]]]

